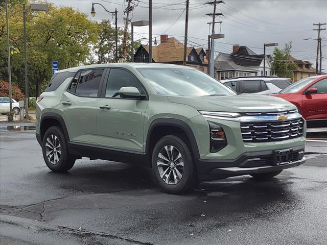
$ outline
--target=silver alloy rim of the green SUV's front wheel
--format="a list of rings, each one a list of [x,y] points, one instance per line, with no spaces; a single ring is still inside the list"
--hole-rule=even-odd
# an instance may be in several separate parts
[[[166,184],[177,184],[184,173],[184,160],[179,150],[173,145],[166,145],[158,154],[159,175]]]

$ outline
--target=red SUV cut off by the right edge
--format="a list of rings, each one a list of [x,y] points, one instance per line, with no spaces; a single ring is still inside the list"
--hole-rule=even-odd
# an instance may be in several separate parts
[[[308,126],[327,127],[327,75],[304,78],[273,96],[296,105]]]

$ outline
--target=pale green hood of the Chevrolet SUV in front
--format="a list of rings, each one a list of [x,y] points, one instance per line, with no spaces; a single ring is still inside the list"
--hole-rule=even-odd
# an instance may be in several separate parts
[[[284,99],[249,93],[230,96],[168,96],[168,100],[171,103],[192,106],[198,111],[264,112],[296,109]]]

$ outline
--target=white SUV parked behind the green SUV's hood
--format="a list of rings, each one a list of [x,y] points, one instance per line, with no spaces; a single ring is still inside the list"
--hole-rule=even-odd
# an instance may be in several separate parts
[[[221,80],[220,82],[238,93],[271,94],[278,93],[290,86],[291,79],[276,76],[239,77]]]

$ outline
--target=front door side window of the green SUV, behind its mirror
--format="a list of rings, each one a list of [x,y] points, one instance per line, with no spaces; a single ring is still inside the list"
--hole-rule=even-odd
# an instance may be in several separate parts
[[[145,94],[141,82],[131,72],[123,69],[110,69],[105,96],[118,96],[118,91],[122,87],[136,87],[141,94]]]

